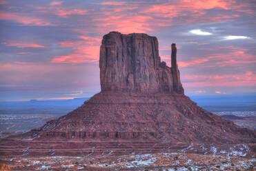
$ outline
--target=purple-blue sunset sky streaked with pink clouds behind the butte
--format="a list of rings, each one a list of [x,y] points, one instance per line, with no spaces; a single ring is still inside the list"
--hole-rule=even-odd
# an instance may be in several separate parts
[[[176,43],[187,95],[256,92],[256,1],[0,0],[0,101],[72,99],[100,91],[104,34]]]

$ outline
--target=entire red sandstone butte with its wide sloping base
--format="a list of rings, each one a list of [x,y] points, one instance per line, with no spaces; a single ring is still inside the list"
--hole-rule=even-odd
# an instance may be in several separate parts
[[[106,34],[99,59],[101,92],[41,128],[1,139],[1,156],[123,155],[182,149],[199,154],[208,149],[208,154],[215,154],[236,144],[246,144],[255,153],[253,130],[221,119],[184,95],[176,54],[173,43],[168,67],[159,57],[156,37]]]

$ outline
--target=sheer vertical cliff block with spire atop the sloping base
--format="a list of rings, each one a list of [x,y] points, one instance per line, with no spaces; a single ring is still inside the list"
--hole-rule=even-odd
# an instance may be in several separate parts
[[[110,32],[101,44],[99,67],[101,90],[129,92],[176,92],[183,94],[173,46],[169,68],[160,61],[158,41],[147,34]]]

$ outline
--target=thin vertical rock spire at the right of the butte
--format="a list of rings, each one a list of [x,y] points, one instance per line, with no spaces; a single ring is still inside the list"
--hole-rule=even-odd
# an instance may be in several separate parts
[[[184,94],[184,88],[182,87],[180,77],[179,77],[179,69],[177,66],[177,48],[176,44],[172,44],[172,75],[173,75],[173,91],[178,94]]]

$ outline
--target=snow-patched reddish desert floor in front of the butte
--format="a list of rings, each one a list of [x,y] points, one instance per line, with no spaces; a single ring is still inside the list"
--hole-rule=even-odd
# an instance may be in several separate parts
[[[158,153],[114,157],[17,157],[1,159],[12,170],[256,170],[256,159],[237,155]]]

